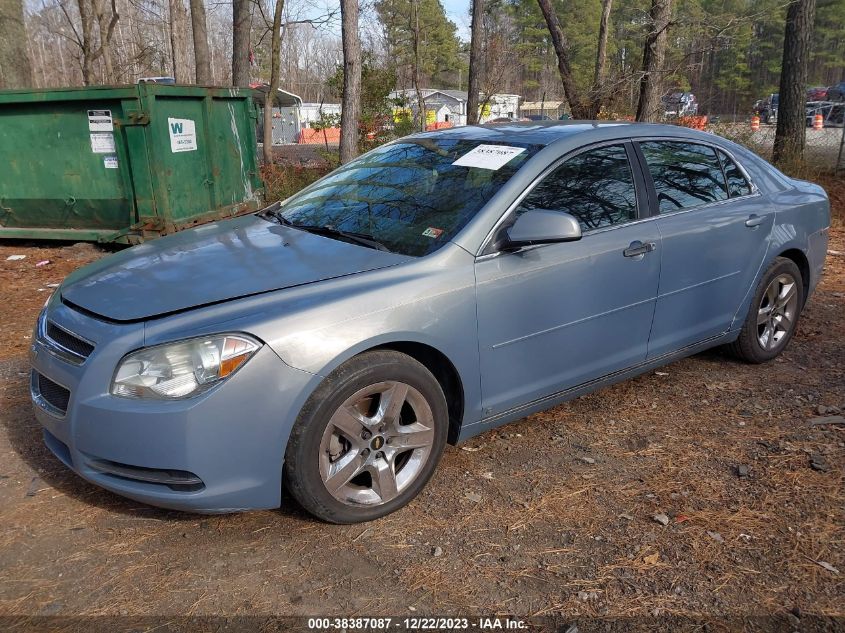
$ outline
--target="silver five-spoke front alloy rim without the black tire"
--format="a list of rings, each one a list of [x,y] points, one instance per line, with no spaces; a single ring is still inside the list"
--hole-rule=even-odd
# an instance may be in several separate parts
[[[434,437],[431,406],[410,385],[386,381],[360,389],[338,407],[323,431],[323,485],[349,505],[387,503],[422,471]]]

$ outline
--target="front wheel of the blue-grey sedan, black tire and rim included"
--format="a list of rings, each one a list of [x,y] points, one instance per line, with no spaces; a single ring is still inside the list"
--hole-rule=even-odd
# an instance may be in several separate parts
[[[365,352],[332,372],[302,408],[284,480],[324,521],[372,521],[425,487],[448,426],[446,398],[428,369],[399,352]]]

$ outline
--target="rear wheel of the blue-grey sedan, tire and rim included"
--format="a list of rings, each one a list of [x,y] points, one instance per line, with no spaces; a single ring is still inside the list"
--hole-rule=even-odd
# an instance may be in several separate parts
[[[803,307],[801,271],[792,260],[775,258],[757,286],[739,338],[729,346],[731,352],[749,363],[772,360],[792,340]]]

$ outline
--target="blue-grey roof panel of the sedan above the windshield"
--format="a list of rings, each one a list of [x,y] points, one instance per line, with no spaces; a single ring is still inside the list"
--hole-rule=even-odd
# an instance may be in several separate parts
[[[465,125],[433,132],[415,134],[416,138],[454,138],[461,140],[498,141],[501,143],[530,143],[551,145],[563,139],[582,137],[612,139],[631,136],[685,136],[698,138],[703,134],[690,128],[658,123],[629,123],[627,121],[526,121],[494,125]],[[709,135],[712,136],[712,135]]]

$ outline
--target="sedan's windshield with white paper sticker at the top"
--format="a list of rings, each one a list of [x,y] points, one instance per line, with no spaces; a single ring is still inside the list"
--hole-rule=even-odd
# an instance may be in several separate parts
[[[540,147],[404,139],[318,180],[276,215],[329,237],[347,233],[395,253],[426,255],[454,237]]]

